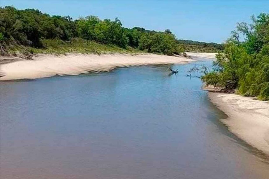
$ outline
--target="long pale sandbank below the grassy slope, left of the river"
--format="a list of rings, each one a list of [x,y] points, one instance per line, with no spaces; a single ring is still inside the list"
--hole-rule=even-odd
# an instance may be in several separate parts
[[[0,80],[35,79],[55,75],[79,75],[89,72],[107,72],[117,67],[156,64],[182,64],[194,61],[179,56],[143,55],[45,55],[34,60],[16,61],[0,67]]]

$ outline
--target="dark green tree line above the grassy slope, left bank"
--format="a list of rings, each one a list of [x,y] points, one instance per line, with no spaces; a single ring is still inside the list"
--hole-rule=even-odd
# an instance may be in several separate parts
[[[72,42],[76,38],[166,55],[182,52],[170,30],[156,32],[141,27],[125,28],[118,18],[101,20],[91,15],[73,20],[70,16],[50,16],[36,9],[0,7],[1,47],[16,44],[44,48],[44,40]]]

